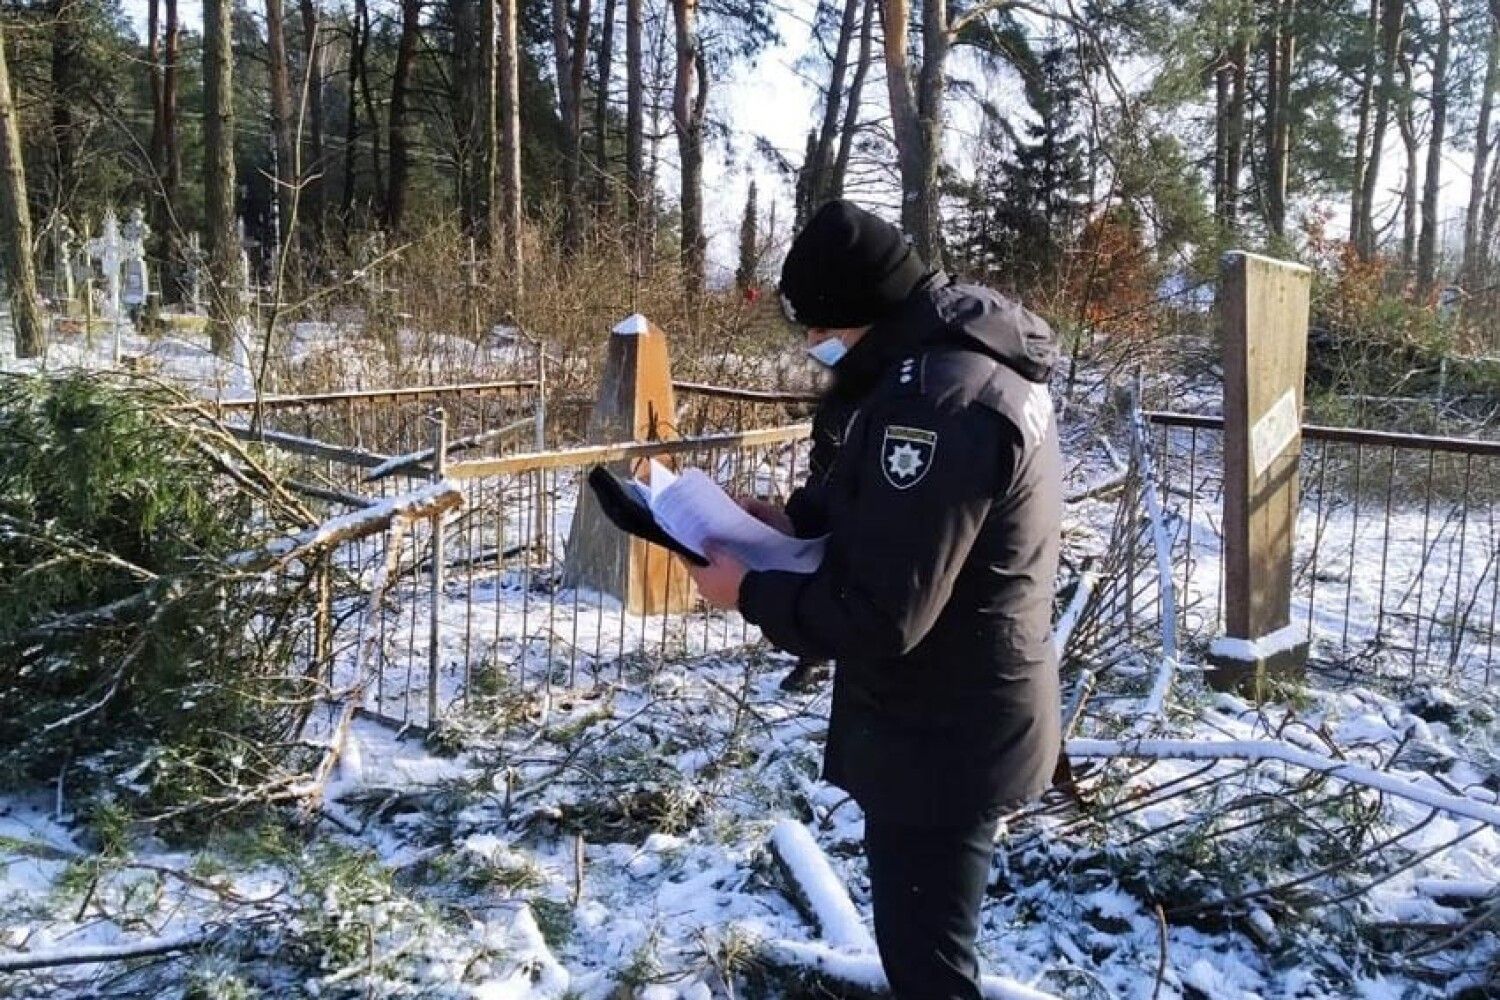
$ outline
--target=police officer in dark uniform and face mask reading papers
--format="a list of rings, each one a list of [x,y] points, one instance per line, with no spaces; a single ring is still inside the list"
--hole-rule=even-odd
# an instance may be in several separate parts
[[[828,550],[812,574],[711,553],[693,576],[776,646],[836,661],[824,777],[864,810],[886,978],[903,1000],[978,997],[996,822],[1048,786],[1060,742],[1056,342],[843,201],[798,234],[782,295],[852,405],[825,477],[752,510]]]

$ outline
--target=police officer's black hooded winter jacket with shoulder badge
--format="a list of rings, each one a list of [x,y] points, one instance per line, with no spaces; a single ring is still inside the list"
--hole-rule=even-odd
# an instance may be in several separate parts
[[[1040,318],[933,276],[840,363],[814,420],[842,442],[786,508],[830,534],[822,567],[741,586],[771,643],[837,661],[824,772],[870,816],[963,823],[1050,783],[1054,358]]]

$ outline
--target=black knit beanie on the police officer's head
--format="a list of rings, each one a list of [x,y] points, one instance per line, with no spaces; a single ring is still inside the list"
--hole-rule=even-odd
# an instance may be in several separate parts
[[[900,229],[849,201],[830,201],[792,241],[782,301],[804,327],[864,327],[892,313],[926,274]]]

